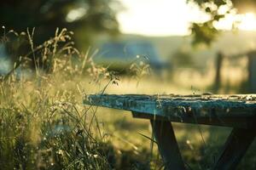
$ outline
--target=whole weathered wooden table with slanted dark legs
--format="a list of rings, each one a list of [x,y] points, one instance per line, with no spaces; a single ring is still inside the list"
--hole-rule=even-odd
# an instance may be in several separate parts
[[[131,111],[149,119],[166,169],[186,169],[172,122],[232,127],[213,169],[235,169],[256,135],[256,95],[95,94],[84,104]]]

